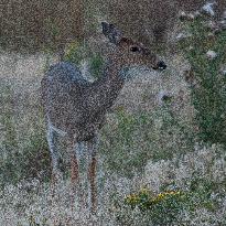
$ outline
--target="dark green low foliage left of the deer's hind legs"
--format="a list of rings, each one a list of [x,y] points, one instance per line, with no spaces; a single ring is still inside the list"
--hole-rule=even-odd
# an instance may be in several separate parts
[[[50,180],[51,160],[45,139],[31,136],[30,141],[23,146],[22,151],[13,150],[1,161],[0,185],[15,184],[21,180],[34,177],[42,181]]]

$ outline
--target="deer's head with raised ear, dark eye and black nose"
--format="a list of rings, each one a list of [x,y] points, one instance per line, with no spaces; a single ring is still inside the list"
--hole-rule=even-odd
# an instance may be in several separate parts
[[[116,45],[114,57],[118,58],[123,66],[147,66],[153,69],[165,69],[163,61],[153,54],[143,44],[122,36],[114,24],[101,22],[103,33],[110,43]]]

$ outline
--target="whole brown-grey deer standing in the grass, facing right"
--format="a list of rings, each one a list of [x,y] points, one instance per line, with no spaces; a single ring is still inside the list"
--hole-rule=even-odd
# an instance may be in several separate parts
[[[76,187],[79,183],[79,164],[76,151],[87,142],[89,147],[88,181],[92,209],[97,206],[96,154],[100,128],[108,109],[114,105],[125,84],[125,68],[147,66],[164,69],[166,65],[142,44],[121,35],[114,24],[101,23],[103,33],[115,44],[109,54],[103,76],[90,83],[83,78],[78,68],[66,62],[52,66],[42,79],[42,96],[47,125],[47,141],[52,155],[53,175],[58,172],[55,134],[67,139],[71,153],[71,179]],[[76,150],[75,150],[76,149]]]

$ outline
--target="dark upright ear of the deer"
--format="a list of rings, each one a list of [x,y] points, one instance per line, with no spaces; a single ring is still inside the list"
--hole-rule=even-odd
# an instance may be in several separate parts
[[[118,44],[121,40],[121,32],[111,23],[101,22],[103,34],[114,44]]]

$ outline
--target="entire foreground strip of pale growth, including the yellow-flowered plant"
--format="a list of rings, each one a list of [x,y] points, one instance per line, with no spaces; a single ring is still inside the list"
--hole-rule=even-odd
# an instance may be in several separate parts
[[[108,174],[99,190],[94,225],[225,225],[225,150],[213,146],[181,158],[150,162],[148,168],[153,169],[147,169],[148,175],[139,180]],[[171,183],[165,173],[169,171]],[[159,187],[154,189],[158,180]],[[58,184],[55,195],[49,183],[39,180],[0,187],[0,224],[90,223],[89,211],[80,211],[77,203],[72,212],[69,191],[69,180]]]

